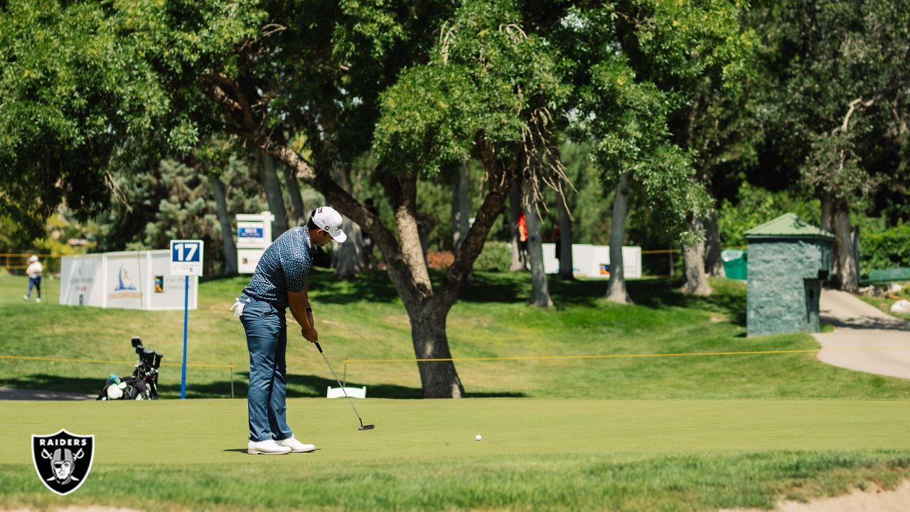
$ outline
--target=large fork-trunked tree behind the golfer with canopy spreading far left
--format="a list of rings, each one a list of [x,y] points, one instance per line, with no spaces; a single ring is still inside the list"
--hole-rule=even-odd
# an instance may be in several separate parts
[[[96,44],[71,45],[71,39],[62,46],[97,48],[113,67],[98,83],[146,95],[135,102],[126,101],[134,96],[114,97],[114,108],[93,103],[104,127],[94,137],[106,145],[89,140],[80,150],[101,162],[102,175],[115,157],[189,153],[210,135],[237,136],[287,165],[369,231],[409,312],[415,353],[450,356],[446,317],[508,190],[518,176],[539,188],[554,167],[543,155],[560,120],[551,110],[561,112],[566,87],[555,48],[528,32],[516,5],[363,2],[327,10],[318,3],[148,0],[45,6],[60,13],[38,27],[48,35],[66,33],[60,26],[89,11],[85,32]],[[34,23],[34,16],[26,19]],[[16,21],[15,37],[5,40],[32,40],[29,24]],[[122,79],[105,81],[111,77]],[[13,92],[24,97],[27,91]],[[125,105],[136,115],[117,117],[116,108]],[[16,130],[5,125],[4,133],[18,136]],[[306,133],[312,159],[287,142],[298,131]],[[335,172],[367,149],[379,162],[374,175],[394,212],[394,233]],[[5,173],[18,164],[17,155],[4,153]],[[434,289],[415,216],[418,179],[470,157],[484,169],[483,196],[454,263]],[[418,368],[424,396],[463,395],[451,362]]]

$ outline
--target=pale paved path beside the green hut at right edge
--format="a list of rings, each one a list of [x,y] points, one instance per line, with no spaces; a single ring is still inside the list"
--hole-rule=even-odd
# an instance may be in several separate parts
[[[821,310],[822,322],[834,325],[834,333],[813,334],[822,344],[820,361],[910,379],[910,322],[881,312],[850,293],[834,290],[822,291]]]

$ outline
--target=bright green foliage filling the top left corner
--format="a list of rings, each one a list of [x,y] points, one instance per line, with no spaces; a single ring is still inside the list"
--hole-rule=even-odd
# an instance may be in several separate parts
[[[109,204],[111,169],[188,151],[211,129],[195,93],[258,32],[252,3],[16,0],[0,8],[0,213],[41,235],[62,200]]]

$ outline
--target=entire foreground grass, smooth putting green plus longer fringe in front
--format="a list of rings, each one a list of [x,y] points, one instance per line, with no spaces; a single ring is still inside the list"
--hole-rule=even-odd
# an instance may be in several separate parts
[[[771,507],[910,472],[898,401],[295,399],[315,454],[248,456],[246,403],[2,405],[0,506],[146,510],[711,510]],[[95,435],[86,484],[56,497],[31,435]],[[474,440],[474,435],[483,440]]]

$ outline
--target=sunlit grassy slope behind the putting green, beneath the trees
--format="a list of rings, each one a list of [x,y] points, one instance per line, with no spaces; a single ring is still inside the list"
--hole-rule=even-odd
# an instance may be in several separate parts
[[[436,276],[439,277],[439,276]],[[189,315],[187,361],[235,364],[236,392],[246,394],[248,353],[243,330],[228,311],[248,278],[200,286],[199,309]],[[45,280],[45,303],[23,302],[24,278],[0,276],[0,355],[135,360],[129,338],[165,354],[164,396],[179,394],[182,312],[136,312],[56,305],[58,282]],[[412,358],[410,323],[385,274],[339,282],[317,271],[311,282],[320,342],[341,373],[343,360]],[[603,282],[551,282],[551,310],[527,305],[526,274],[479,273],[448,320],[455,357],[703,353],[818,348],[808,334],[746,338],[742,283],[713,281],[707,299],[686,297],[670,282],[631,282],[637,304],[602,301]],[[290,324],[290,396],[324,396],[335,385],[318,353]],[[814,353],[713,357],[564,359],[459,362],[472,396],[668,398],[910,398],[910,382],[860,374],[819,363]],[[0,359],[0,385],[96,393],[107,374],[131,364],[74,364]],[[190,368],[187,395],[230,395],[224,369]],[[351,384],[371,397],[420,397],[414,363],[352,363]]]

